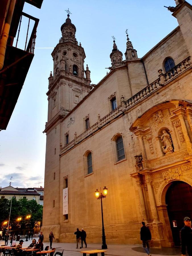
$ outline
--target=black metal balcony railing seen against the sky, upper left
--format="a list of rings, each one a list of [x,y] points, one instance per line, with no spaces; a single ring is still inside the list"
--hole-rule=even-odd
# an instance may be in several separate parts
[[[33,16],[28,15],[27,13],[23,13],[22,12],[22,14],[21,14],[20,21],[19,21],[19,26],[18,26],[17,39],[16,39],[15,47],[17,48],[17,45],[18,45],[19,35],[20,35],[20,30],[21,30],[21,22],[22,22],[23,16],[28,18],[28,26],[27,26],[27,31],[26,31],[26,40],[25,40],[25,45],[24,45],[24,51],[27,51],[29,53],[33,53],[34,54],[35,39],[36,39],[36,32],[37,32],[37,26],[38,26],[38,23],[39,23],[39,19],[38,18],[34,18]],[[34,25],[33,25],[33,28],[32,28],[32,32],[31,32],[30,38],[28,39],[28,37],[29,37],[29,30],[30,30],[30,21],[31,20],[34,20]]]

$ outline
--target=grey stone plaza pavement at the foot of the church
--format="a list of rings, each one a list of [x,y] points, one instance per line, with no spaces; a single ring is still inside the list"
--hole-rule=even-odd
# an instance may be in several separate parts
[[[21,238],[22,239],[22,238]],[[38,240],[38,238],[35,238]],[[25,241],[23,246],[28,246],[31,243],[31,240]],[[0,240],[0,244],[4,244],[5,242]],[[17,242],[18,243],[18,242]],[[10,240],[8,245],[10,245]],[[48,242],[44,242],[44,248],[49,245]],[[52,247],[55,247],[56,251],[63,251],[63,256],[82,256],[80,251],[93,250],[93,249],[101,249],[101,245],[99,244],[88,244],[87,248],[76,249],[76,243],[53,243]],[[108,244],[108,249],[105,255],[111,256],[146,256],[144,253],[143,247],[141,245],[119,245],[119,244]],[[164,256],[164,255],[172,255],[177,256],[181,255],[180,248],[151,248],[151,254],[156,256]],[[98,254],[100,255],[100,254]]]

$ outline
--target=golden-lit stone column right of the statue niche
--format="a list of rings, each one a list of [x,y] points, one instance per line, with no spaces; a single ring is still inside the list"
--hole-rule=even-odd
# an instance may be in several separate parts
[[[175,110],[173,110],[172,112],[179,117],[183,135],[184,135],[184,138],[186,141],[187,151],[189,154],[192,154],[192,143],[191,143],[191,139],[189,137],[189,131],[187,129],[187,125],[186,125],[186,121],[185,121],[185,108],[180,106],[180,107],[176,108]]]

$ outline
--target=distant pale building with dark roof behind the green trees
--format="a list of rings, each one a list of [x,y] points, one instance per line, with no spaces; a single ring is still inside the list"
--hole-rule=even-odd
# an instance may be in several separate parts
[[[44,188],[40,187],[28,187],[28,188],[18,188],[18,187],[3,187],[0,188],[0,198],[10,200],[11,197],[19,200],[21,198],[26,198],[27,200],[35,200],[39,205],[43,205],[44,198]]]

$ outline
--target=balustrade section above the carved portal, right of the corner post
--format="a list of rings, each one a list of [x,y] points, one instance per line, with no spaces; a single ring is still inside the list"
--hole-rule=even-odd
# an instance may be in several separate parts
[[[178,75],[183,73],[186,69],[191,67],[191,57],[187,57],[176,65],[173,69],[163,74],[162,69],[158,71],[159,78],[143,88],[141,91],[137,92],[131,98],[129,98],[125,104],[126,107],[136,104],[138,101],[142,100],[152,92],[156,91],[159,87],[166,85],[168,82],[176,78]]]

